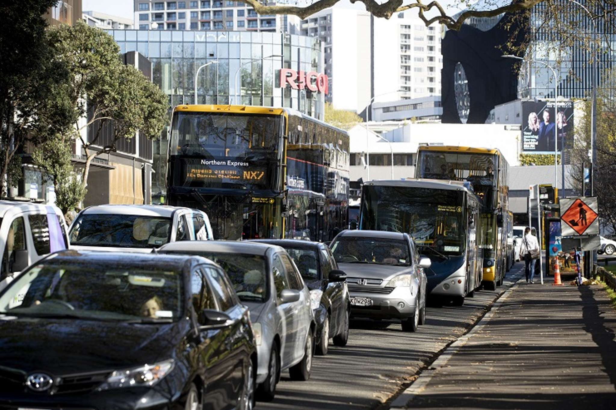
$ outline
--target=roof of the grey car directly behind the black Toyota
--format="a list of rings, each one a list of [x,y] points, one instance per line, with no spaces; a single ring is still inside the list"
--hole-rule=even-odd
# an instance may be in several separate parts
[[[269,249],[284,251],[280,246],[248,241],[177,241],[164,244],[160,252],[216,252],[264,256]]]

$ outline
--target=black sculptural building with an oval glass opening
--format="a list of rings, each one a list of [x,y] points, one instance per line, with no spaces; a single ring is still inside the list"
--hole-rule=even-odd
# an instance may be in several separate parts
[[[443,123],[483,124],[496,105],[517,98],[520,61],[502,55],[524,57],[519,50],[525,49],[528,34],[529,12],[506,13],[486,31],[467,24],[447,31],[442,41]],[[509,41],[516,52],[505,48]]]

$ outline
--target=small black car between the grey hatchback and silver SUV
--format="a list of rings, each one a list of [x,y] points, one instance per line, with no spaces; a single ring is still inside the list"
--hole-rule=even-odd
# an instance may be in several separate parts
[[[317,322],[316,353],[327,354],[331,337],[334,345],[345,346],[349,340],[351,302],[346,274],[338,270],[330,248],[323,243],[296,239],[259,239],[256,242],[285,248],[310,289],[310,302]]]

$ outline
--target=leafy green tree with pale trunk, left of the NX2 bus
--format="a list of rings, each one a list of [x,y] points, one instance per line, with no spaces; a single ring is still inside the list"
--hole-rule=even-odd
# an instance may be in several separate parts
[[[86,154],[81,175],[84,192],[92,159],[115,152],[118,140],[131,139],[137,131],[142,137],[160,137],[167,122],[168,98],[139,70],[122,63],[120,47],[98,28],[83,22],[55,26],[49,30],[49,42],[70,73],[65,95],[74,119],[57,138],[81,140]],[[80,124],[79,118],[87,121]],[[111,140],[103,146],[101,133],[107,127]]]

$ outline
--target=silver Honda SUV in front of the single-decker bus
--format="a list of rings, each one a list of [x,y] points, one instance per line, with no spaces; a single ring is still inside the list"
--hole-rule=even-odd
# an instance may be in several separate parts
[[[402,320],[414,332],[426,321],[426,274],[430,259],[419,257],[406,233],[342,231],[331,243],[338,267],[347,273],[351,316]]]

